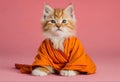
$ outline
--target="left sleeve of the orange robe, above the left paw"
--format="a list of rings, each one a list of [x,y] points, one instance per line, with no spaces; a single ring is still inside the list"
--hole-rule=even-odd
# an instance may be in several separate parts
[[[49,58],[49,54],[48,51],[46,49],[46,41],[43,41],[42,44],[40,45],[39,49],[38,49],[38,53],[37,56],[35,57],[35,61],[32,64],[32,67],[34,66],[47,66],[47,65],[51,65],[50,63],[50,58]]]

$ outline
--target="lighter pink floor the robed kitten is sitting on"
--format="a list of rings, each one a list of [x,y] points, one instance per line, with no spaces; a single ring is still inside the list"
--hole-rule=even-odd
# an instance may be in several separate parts
[[[108,52],[108,51],[107,51]],[[120,81],[120,51],[111,51],[111,54],[107,52],[101,53],[100,51],[94,52],[92,58],[97,65],[96,74],[92,75],[77,75],[74,77],[63,77],[59,75],[49,75],[45,77],[32,76],[28,74],[21,74],[17,69],[14,68],[14,63],[26,63],[30,64],[33,61],[32,56],[27,58],[27,55],[20,56],[20,54],[9,54],[6,56],[2,54],[0,57],[0,81],[40,81],[40,82],[82,82],[82,81]],[[99,54],[98,54],[99,53]],[[114,54],[114,56],[113,56]],[[17,57],[15,56],[17,55]],[[106,55],[106,56],[105,56]],[[27,60],[25,61],[25,58]]]

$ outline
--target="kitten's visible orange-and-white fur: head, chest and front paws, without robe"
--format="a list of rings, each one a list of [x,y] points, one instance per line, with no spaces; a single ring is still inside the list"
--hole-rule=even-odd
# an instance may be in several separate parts
[[[72,4],[65,9],[53,9],[45,5],[42,18],[42,30],[46,39],[50,39],[55,49],[64,52],[63,42],[65,38],[75,35],[75,15]],[[37,67],[32,71],[33,75],[46,76],[55,73],[51,66]],[[74,70],[61,70],[62,76],[75,76],[78,72]]]

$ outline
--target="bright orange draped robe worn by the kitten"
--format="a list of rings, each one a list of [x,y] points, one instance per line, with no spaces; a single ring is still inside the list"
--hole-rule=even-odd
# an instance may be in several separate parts
[[[49,39],[42,42],[32,67],[48,65],[58,72],[65,69],[86,72],[87,74],[95,73],[96,66],[94,62],[86,54],[81,42],[76,37],[65,39],[63,43],[64,52],[54,49],[52,45]]]

